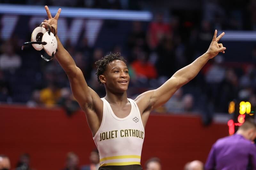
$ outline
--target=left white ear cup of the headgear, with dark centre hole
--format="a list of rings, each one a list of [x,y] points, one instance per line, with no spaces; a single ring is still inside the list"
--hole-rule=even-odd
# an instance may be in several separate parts
[[[32,32],[31,35],[31,42],[38,42],[38,41],[42,41],[42,37],[44,35],[44,33],[46,33],[46,29],[43,26],[38,26],[34,29],[34,31]],[[42,44],[32,44],[32,46],[40,51],[43,49],[43,45]]]

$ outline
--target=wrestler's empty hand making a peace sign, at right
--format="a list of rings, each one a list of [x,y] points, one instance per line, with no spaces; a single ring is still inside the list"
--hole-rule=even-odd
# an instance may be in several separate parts
[[[226,47],[223,47],[223,45],[220,43],[218,44],[218,41],[220,41],[221,37],[223,37],[225,33],[221,33],[218,37],[217,37],[217,30],[215,30],[214,32],[214,36],[212,39],[212,42],[210,44],[210,47],[208,48],[207,52],[210,56],[210,58],[215,57],[216,55],[218,55],[220,52],[225,53],[224,50],[226,50]]]

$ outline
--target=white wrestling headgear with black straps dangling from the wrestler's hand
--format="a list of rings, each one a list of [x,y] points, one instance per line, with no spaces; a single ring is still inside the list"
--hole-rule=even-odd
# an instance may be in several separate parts
[[[51,28],[49,25],[44,24],[48,27],[48,31],[41,24],[36,27],[31,35],[31,41],[23,43],[21,49],[23,50],[25,46],[29,46],[30,44],[40,53],[40,56],[45,61],[50,61],[56,54],[57,50],[57,39],[55,37],[55,29],[54,34],[51,32]],[[42,50],[44,49],[44,50]],[[48,55],[45,57],[45,54]]]

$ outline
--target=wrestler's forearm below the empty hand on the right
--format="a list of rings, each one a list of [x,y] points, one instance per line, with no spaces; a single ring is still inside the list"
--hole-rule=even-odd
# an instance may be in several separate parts
[[[198,57],[193,63],[178,70],[172,77],[179,80],[180,86],[187,84],[190,80],[196,77],[203,66],[208,62],[210,56],[208,53],[204,53]]]

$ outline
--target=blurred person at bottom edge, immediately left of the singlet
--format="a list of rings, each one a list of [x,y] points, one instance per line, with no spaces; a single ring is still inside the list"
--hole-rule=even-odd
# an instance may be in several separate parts
[[[98,149],[92,150],[90,154],[90,165],[84,165],[81,167],[81,170],[98,170],[100,166],[100,156]]]

